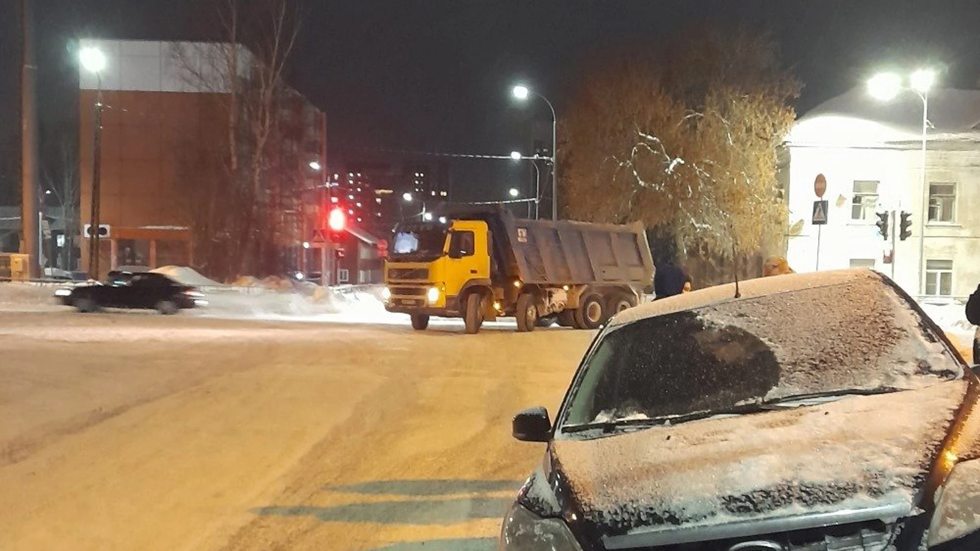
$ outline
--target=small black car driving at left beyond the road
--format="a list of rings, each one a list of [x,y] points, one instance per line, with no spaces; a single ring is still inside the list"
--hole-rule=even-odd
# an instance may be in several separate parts
[[[180,309],[207,306],[204,294],[182,285],[167,275],[151,272],[132,274],[111,272],[106,282],[94,281],[55,291],[62,304],[79,312],[96,312],[102,308],[155,309],[161,314],[176,314]]]

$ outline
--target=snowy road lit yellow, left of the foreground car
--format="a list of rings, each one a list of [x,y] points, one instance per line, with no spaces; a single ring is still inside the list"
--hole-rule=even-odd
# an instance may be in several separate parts
[[[591,333],[461,332],[0,313],[0,549],[494,549]]]

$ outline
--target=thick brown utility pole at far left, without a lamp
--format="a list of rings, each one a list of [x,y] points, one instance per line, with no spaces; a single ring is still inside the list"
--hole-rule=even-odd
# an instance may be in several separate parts
[[[37,224],[37,106],[35,103],[34,14],[30,0],[21,0],[21,252],[27,254],[27,274],[40,275],[40,227]]]

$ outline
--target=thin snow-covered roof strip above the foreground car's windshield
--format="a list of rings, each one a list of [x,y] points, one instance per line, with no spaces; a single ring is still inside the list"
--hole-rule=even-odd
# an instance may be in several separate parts
[[[815,274],[772,275],[739,282],[739,298],[735,298],[735,283],[716,285],[631,308],[615,316],[609,325],[623,326],[664,314],[684,312],[706,306],[867,280],[877,280],[882,285],[889,284],[885,281],[883,275],[866,269],[839,270]]]

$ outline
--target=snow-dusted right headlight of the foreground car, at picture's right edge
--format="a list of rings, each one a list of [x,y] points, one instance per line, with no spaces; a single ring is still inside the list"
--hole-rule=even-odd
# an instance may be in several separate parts
[[[980,460],[958,463],[947,476],[929,526],[930,549],[980,530],[977,480],[980,480]]]

